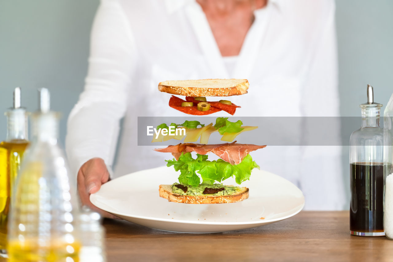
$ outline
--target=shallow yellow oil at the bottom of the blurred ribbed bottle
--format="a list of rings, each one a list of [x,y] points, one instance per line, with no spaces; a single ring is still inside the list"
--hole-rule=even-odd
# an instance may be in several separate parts
[[[49,246],[40,246],[38,240],[10,241],[9,262],[79,262],[77,242],[71,244],[62,240],[52,240]]]

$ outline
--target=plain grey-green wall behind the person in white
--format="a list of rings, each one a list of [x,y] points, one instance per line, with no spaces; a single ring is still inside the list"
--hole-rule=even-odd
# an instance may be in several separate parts
[[[99,0],[0,0],[0,111],[12,105],[12,91],[22,87],[22,104],[37,108],[37,88],[51,91],[51,104],[66,119],[83,89],[89,35]],[[375,101],[386,105],[393,92],[393,1],[336,0],[343,116],[360,114],[366,85]],[[0,117],[0,140],[6,118]],[[349,137],[343,137],[349,139]],[[343,180],[348,188],[349,148],[343,149]],[[349,194],[349,192],[348,192]],[[348,205],[347,205],[348,206]]]

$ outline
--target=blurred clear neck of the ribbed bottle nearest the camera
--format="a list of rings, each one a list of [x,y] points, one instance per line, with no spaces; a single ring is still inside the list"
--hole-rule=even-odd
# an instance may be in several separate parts
[[[33,114],[33,141],[46,141],[57,144],[59,137],[59,117],[55,112]]]

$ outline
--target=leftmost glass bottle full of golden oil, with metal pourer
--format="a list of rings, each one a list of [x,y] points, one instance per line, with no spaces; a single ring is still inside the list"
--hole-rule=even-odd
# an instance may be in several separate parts
[[[7,222],[12,188],[28,145],[27,114],[20,106],[20,88],[14,90],[13,107],[7,110],[7,138],[0,143],[0,256],[7,256]]]

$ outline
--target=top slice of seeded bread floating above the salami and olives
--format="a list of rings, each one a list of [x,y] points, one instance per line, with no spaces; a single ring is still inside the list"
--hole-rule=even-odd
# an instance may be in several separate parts
[[[158,90],[192,97],[231,96],[247,93],[247,79],[171,80],[158,84]]]

